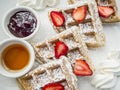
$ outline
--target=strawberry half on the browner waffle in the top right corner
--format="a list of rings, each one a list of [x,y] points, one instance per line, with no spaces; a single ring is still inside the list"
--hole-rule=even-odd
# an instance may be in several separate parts
[[[98,6],[100,16],[108,18],[114,13],[114,9],[108,6]]]

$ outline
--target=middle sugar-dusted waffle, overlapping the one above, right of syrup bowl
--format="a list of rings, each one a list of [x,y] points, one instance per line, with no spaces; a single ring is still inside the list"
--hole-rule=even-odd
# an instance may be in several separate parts
[[[38,60],[41,60],[43,63],[56,60],[54,46],[57,41],[62,41],[68,46],[69,50],[66,57],[73,67],[76,60],[82,59],[86,60],[91,69],[94,69],[91,60],[88,57],[88,49],[85,43],[82,42],[78,27],[71,27],[69,30],[61,32],[54,37],[35,45],[34,48],[37,53],[36,57],[39,58]]]

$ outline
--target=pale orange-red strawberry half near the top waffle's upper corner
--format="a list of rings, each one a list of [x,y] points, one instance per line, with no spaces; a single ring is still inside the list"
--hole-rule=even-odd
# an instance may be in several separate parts
[[[72,17],[75,21],[78,23],[84,21],[87,13],[87,7],[86,6],[81,6],[75,9],[72,13]]]

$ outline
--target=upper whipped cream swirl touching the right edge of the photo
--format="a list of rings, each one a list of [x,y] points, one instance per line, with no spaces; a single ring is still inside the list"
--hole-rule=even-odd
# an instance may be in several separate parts
[[[114,73],[120,75],[120,51],[112,51],[108,54],[106,60],[100,64],[100,70],[103,73]]]

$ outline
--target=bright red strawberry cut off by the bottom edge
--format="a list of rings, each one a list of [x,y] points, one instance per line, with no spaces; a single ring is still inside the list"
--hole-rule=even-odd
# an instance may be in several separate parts
[[[64,86],[59,83],[49,83],[45,85],[42,90],[64,90]]]

